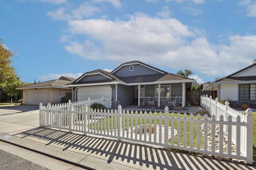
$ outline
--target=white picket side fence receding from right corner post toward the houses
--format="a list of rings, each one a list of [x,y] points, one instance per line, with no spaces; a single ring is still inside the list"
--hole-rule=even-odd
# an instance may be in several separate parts
[[[215,117],[224,117],[224,121],[228,121],[230,118],[233,122],[244,122],[247,125],[237,128],[236,126],[231,126],[231,132],[228,130],[228,126],[224,126],[223,133],[231,134],[231,141],[236,145],[236,148],[240,148],[243,155],[248,155],[248,149],[252,150],[252,139],[253,139],[253,117],[252,110],[248,109],[246,112],[239,112],[231,107],[229,107],[229,102],[226,101],[225,105],[219,102],[219,99],[212,99],[212,96],[207,95],[201,96],[201,107],[204,108],[210,115],[215,115]],[[249,113],[248,113],[249,111]],[[217,119],[218,120],[218,119]],[[249,144],[249,146],[248,146]],[[249,147],[249,148],[247,148]],[[249,151],[249,155],[252,151]],[[250,157],[251,159],[251,157]]]

